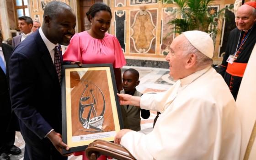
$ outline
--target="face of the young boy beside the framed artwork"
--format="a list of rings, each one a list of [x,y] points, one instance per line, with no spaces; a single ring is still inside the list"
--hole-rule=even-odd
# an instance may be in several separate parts
[[[139,80],[136,79],[136,76],[131,72],[126,71],[123,73],[123,90],[125,92],[132,92],[135,90],[135,87],[139,85]]]

